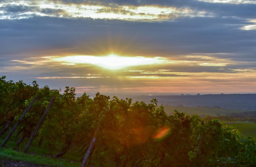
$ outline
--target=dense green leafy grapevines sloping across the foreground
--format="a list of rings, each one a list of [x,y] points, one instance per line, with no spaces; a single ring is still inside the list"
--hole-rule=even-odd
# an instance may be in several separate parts
[[[252,167],[256,140],[223,126],[218,119],[203,119],[174,111],[167,115],[157,100],[150,104],[86,93],[75,97],[23,81],[0,79],[0,136],[5,147],[16,138],[25,153],[37,145],[52,158],[77,150],[81,166],[97,160],[111,167]],[[21,144],[25,147],[20,148]],[[54,153],[54,154],[52,154]]]

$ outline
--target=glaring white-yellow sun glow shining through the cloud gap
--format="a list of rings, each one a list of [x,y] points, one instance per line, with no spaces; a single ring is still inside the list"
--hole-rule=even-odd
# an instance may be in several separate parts
[[[128,66],[149,65],[164,63],[165,59],[161,57],[146,58],[142,56],[136,57],[123,57],[117,55],[108,56],[66,56],[66,57],[53,57],[51,61],[60,62],[62,64],[93,64],[108,69],[121,69]]]

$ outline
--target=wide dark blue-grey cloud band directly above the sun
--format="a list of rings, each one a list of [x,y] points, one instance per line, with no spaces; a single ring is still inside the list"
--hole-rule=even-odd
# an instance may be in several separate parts
[[[151,56],[231,53],[225,57],[247,61],[255,58],[256,31],[242,30],[241,25],[245,23],[218,17],[182,18],[171,22],[52,17],[0,20],[0,53],[33,54],[44,50],[51,54],[56,49],[65,49],[96,55],[112,48],[123,54]]]

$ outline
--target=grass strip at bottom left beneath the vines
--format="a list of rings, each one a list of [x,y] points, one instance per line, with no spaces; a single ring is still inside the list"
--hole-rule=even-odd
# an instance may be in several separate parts
[[[41,155],[30,155],[12,149],[0,148],[0,160],[17,160],[38,165],[60,166],[60,167],[79,167],[78,163],[71,163],[67,160],[53,159]]]

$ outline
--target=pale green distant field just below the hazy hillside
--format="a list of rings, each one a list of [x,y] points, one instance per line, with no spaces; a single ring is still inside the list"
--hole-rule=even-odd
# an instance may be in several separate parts
[[[227,115],[230,113],[240,113],[245,112],[245,110],[238,109],[228,109],[228,108],[212,108],[212,107],[186,107],[186,106],[164,106],[164,111],[167,115],[173,114],[173,110],[177,110],[179,112],[185,112],[189,115],[209,115],[209,116],[217,116],[217,115]]]

